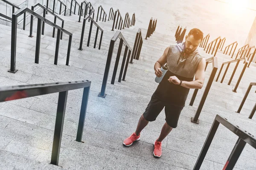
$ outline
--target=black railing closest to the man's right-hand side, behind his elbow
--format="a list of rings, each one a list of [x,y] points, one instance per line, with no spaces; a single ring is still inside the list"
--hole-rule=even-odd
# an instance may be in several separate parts
[[[196,113],[195,113],[195,116],[191,118],[191,122],[197,123],[197,124],[199,123],[198,118],[199,118],[200,113],[201,113],[201,111],[202,111],[202,109],[203,109],[204,102],[205,102],[205,100],[206,100],[206,98],[207,98],[207,95],[208,95],[208,93],[209,93],[209,90],[210,90],[210,88],[211,88],[211,86],[212,86],[212,82],[213,82],[214,77],[215,77],[215,75],[216,75],[216,72],[217,72],[217,70],[218,70],[218,60],[217,60],[217,57],[211,57],[211,58],[209,58],[209,59],[206,59],[205,70],[207,69],[207,66],[208,66],[209,63],[212,63],[212,72],[211,72],[211,75],[210,75],[209,80],[208,80],[208,82],[207,82],[206,88],[205,88],[205,90],[204,90],[204,94],[203,94],[203,96],[202,96],[202,99],[201,99],[201,101],[200,101],[200,103],[199,103],[199,105],[198,105],[198,109],[197,109],[197,111],[196,111]],[[195,102],[195,97],[197,96],[197,93],[198,93],[198,89],[195,89],[195,91],[194,91],[194,93],[193,93],[193,95],[192,95],[191,101],[190,101],[190,103],[189,103],[190,106],[192,106],[192,105],[194,104],[194,102]]]

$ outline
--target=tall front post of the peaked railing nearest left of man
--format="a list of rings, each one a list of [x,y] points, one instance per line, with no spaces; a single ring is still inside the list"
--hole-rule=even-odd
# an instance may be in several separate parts
[[[112,55],[113,55],[114,46],[115,46],[115,41],[111,40],[110,45],[109,45],[109,49],[108,49],[108,58],[107,58],[106,67],[105,67],[105,71],[104,71],[102,88],[101,88],[101,91],[98,95],[99,97],[105,98],[106,95],[107,95],[107,94],[105,94],[105,91],[106,91],[106,86],[107,86],[107,82],[108,82],[108,73],[109,73],[109,70],[110,70],[111,59],[112,59]]]

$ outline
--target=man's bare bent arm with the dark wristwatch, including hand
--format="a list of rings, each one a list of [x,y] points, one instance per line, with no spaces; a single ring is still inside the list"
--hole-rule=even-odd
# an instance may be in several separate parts
[[[182,81],[181,86],[185,88],[198,88],[201,89],[204,85],[205,73],[204,69],[206,66],[205,58],[202,58],[201,62],[198,65],[197,71],[195,73],[195,80],[191,82]],[[180,84],[180,80],[176,76],[172,76],[169,79],[169,82],[172,82],[176,85]]]

